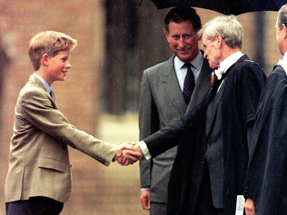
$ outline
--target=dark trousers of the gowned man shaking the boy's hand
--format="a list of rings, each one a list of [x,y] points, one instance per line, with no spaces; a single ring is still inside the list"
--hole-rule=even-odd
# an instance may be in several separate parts
[[[212,202],[209,170],[207,160],[204,160],[204,171],[197,196],[194,215],[222,215],[223,208],[215,208]]]

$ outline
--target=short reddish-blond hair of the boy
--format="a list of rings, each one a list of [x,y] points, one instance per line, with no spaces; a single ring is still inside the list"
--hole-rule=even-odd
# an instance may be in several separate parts
[[[55,57],[60,51],[72,50],[77,40],[64,33],[45,31],[33,36],[29,44],[30,61],[35,71],[40,68],[40,60],[44,54]]]

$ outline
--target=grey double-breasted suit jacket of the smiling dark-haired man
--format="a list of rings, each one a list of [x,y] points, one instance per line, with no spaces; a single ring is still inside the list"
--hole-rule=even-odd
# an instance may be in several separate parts
[[[174,70],[174,57],[144,70],[139,111],[140,140],[198,105],[210,88],[211,69],[204,59],[195,89],[186,104]],[[140,159],[141,188],[150,188],[152,202],[167,202],[167,184],[177,147],[150,160]]]

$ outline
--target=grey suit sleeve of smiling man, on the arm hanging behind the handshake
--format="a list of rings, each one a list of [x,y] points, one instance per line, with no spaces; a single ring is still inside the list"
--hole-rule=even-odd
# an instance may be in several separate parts
[[[141,81],[141,95],[139,106],[139,130],[140,140],[150,136],[159,130],[159,118],[156,106],[152,99],[152,91],[150,89],[149,80],[146,70],[143,73]],[[146,160],[143,156],[140,158],[140,176],[141,188],[150,187],[152,159]]]

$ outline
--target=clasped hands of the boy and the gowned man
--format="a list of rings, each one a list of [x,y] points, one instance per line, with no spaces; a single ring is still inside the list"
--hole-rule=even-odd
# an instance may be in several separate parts
[[[134,142],[125,142],[119,145],[117,153],[112,161],[115,162],[117,160],[122,166],[127,166],[137,162],[141,156],[143,156],[143,152],[138,144],[135,144]]]

